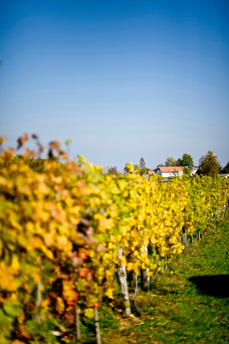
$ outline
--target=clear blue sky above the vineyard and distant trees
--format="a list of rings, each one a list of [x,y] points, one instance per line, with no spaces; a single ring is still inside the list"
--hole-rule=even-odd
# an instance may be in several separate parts
[[[148,168],[229,160],[229,1],[2,1],[0,134]]]

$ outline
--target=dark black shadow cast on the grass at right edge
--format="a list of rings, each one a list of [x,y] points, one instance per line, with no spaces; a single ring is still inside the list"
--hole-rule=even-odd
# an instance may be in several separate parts
[[[203,295],[229,297],[229,275],[195,276],[188,279]]]

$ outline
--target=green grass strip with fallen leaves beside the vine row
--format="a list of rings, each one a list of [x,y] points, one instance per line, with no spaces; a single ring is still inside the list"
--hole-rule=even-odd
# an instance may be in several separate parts
[[[229,343],[229,219],[223,219],[202,241],[195,238],[171,269],[151,279],[150,292],[138,292],[145,312],[122,319],[103,306],[100,329],[106,343]],[[117,303],[121,300],[120,290]],[[82,343],[94,336],[81,326]]]

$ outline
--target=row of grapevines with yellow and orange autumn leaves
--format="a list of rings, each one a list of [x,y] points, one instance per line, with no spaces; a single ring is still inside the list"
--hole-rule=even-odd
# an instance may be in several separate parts
[[[144,316],[138,279],[148,291],[188,240],[214,233],[227,213],[229,181],[219,176],[161,183],[131,164],[125,175],[104,174],[83,157],[68,160],[56,141],[37,170],[34,155],[1,149],[2,344],[71,343],[80,340],[79,323],[101,343],[98,308],[106,303],[123,317]]]

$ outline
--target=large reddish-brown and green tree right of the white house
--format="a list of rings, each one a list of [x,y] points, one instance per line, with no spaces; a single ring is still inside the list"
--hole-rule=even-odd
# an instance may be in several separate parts
[[[196,171],[196,173],[199,175],[203,174],[210,177],[215,177],[222,170],[220,163],[217,161],[217,156],[213,155],[213,152],[210,150],[204,156],[204,159],[203,155],[201,156],[201,158],[199,158],[199,162],[201,162],[201,165]]]

